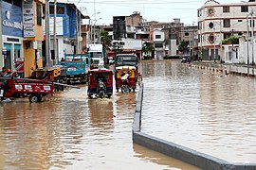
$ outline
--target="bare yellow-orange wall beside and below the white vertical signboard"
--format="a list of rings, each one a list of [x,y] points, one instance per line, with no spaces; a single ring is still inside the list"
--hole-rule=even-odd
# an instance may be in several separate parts
[[[38,55],[38,67],[43,67],[42,59],[42,42],[44,41],[44,24],[42,20],[42,26],[37,26],[37,3],[41,4],[42,16],[43,14],[43,4],[45,0],[34,0],[34,21],[35,21],[35,38],[25,38],[24,39],[24,63],[25,63],[25,77],[31,76],[31,68],[36,68],[36,50]],[[29,48],[27,48],[26,42],[30,43]],[[36,42],[36,43],[34,43]],[[34,46],[35,45],[35,46]]]

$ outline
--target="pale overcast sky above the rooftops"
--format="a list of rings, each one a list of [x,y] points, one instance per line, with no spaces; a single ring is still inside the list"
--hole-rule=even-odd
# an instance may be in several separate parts
[[[53,1],[53,0],[51,0]],[[113,16],[129,16],[139,11],[147,21],[173,22],[180,18],[185,25],[197,23],[197,9],[206,1],[202,0],[58,0],[74,3],[82,14],[91,16],[97,25],[110,25]],[[217,0],[221,4],[240,3],[240,0]],[[99,12],[101,12],[99,14]]]

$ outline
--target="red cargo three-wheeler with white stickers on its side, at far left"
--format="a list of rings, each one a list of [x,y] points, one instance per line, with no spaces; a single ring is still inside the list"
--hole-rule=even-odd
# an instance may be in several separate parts
[[[15,77],[0,77],[0,100],[4,98],[24,98],[29,97],[30,103],[41,102],[42,98],[49,93],[54,93],[54,85],[52,82],[15,78]]]

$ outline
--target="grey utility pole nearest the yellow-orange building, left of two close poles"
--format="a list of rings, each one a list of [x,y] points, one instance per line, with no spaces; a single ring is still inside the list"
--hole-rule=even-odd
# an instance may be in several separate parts
[[[46,67],[50,66],[49,0],[46,0]]]

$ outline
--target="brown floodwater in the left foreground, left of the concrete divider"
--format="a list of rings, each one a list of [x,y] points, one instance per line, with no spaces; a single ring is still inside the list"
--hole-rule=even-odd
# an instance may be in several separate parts
[[[0,169],[196,169],[133,144],[135,98],[87,99],[82,86],[0,104]]]

